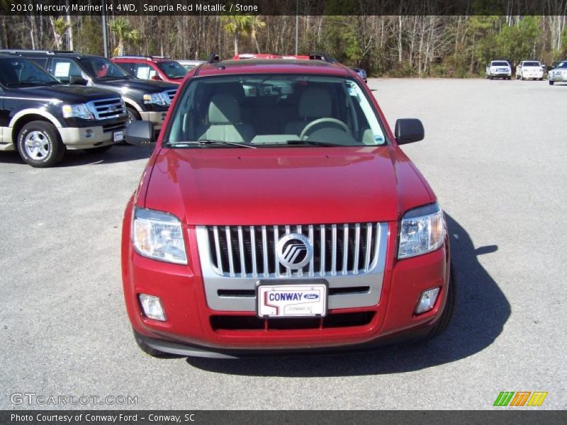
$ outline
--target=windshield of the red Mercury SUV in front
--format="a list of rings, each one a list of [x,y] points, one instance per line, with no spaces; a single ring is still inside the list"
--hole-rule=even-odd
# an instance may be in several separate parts
[[[386,144],[356,81],[280,74],[193,79],[176,103],[164,140],[172,147]]]

